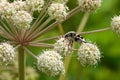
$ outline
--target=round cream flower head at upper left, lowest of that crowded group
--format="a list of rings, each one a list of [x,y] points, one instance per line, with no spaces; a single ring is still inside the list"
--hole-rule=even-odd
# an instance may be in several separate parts
[[[26,11],[18,11],[12,16],[12,20],[14,25],[18,28],[28,29],[30,27],[30,23],[32,22],[32,16]]]

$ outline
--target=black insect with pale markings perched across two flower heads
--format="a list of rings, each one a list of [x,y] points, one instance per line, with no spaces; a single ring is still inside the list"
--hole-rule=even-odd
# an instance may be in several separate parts
[[[86,43],[84,38],[79,34],[76,34],[74,31],[70,31],[64,35],[66,39],[68,39],[71,43],[79,42],[79,43]]]

